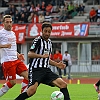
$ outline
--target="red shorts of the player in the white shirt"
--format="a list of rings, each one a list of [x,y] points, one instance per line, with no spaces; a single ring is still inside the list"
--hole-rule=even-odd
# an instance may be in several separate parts
[[[3,73],[7,80],[16,79],[16,74],[20,75],[23,71],[27,71],[27,67],[20,60],[8,61],[2,64]]]

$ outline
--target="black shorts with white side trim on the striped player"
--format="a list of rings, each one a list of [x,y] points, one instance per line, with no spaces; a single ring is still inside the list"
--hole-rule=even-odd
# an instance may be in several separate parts
[[[54,86],[52,81],[59,78],[59,76],[51,71],[49,68],[34,68],[32,73],[29,72],[29,86],[43,83],[49,86]]]

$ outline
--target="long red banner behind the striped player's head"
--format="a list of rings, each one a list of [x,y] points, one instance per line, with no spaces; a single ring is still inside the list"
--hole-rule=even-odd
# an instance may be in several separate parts
[[[88,36],[89,23],[52,24],[52,37]],[[28,36],[41,35],[41,24],[29,24]]]

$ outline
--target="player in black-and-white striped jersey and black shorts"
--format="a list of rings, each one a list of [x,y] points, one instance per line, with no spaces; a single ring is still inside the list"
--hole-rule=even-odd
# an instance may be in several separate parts
[[[70,100],[67,90],[67,83],[57,74],[53,73],[49,64],[58,68],[65,68],[62,62],[55,62],[50,59],[52,52],[52,42],[49,39],[52,25],[48,22],[42,24],[42,36],[33,40],[28,57],[29,64],[29,87],[27,92],[20,94],[15,100],[25,100],[36,93],[37,87],[43,83],[49,86],[57,86],[64,94],[64,100]]]

